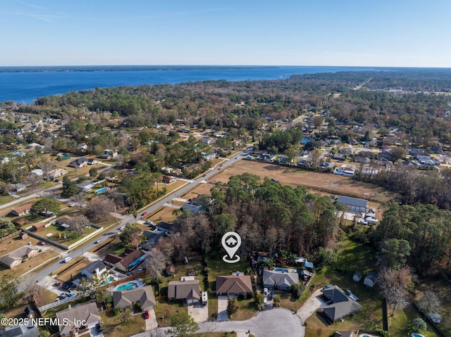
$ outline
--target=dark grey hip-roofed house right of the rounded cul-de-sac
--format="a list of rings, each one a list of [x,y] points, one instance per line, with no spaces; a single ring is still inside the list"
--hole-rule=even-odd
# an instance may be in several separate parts
[[[323,307],[323,312],[330,322],[338,322],[362,308],[362,305],[348,297],[338,286],[330,286],[321,292],[323,299],[328,304],[327,307]]]

